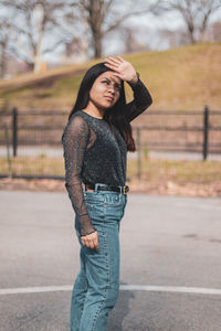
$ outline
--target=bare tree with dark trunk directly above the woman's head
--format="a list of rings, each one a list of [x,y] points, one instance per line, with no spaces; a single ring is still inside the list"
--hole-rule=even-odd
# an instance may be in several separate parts
[[[157,13],[161,0],[155,1],[122,1],[116,0],[76,0],[71,7],[80,12],[87,25],[94,57],[101,57],[103,39],[117,30],[126,19],[144,13]],[[147,4],[146,4],[147,3]]]

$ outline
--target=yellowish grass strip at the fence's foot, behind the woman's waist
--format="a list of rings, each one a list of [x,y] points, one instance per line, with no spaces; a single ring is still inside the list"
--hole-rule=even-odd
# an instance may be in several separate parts
[[[35,158],[12,159],[12,172],[15,174],[64,175],[63,159],[53,159],[41,154]],[[8,172],[6,158],[0,158],[0,173]],[[219,161],[175,161],[149,160],[143,158],[141,174],[147,181],[172,180],[178,183],[211,183],[221,181],[221,162]],[[137,175],[137,160],[128,159],[127,177]]]

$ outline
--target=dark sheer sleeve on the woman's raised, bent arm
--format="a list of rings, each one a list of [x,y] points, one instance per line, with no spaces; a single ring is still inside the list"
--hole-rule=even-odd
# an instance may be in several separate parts
[[[143,114],[152,104],[152,98],[145,84],[140,81],[139,74],[137,73],[137,83],[129,83],[134,92],[134,100],[126,105],[126,118],[131,121],[137,116]]]

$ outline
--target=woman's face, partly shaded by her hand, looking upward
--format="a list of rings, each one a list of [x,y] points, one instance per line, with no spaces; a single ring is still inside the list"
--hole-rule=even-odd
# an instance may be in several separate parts
[[[97,108],[110,108],[119,98],[120,78],[113,75],[112,71],[101,74],[90,90],[90,102]]]

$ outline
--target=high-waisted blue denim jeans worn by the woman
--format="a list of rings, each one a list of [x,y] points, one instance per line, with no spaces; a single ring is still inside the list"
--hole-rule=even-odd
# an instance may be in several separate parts
[[[83,246],[78,220],[75,231],[81,245],[81,270],[71,302],[71,331],[105,331],[108,312],[119,291],[119,225],[127,194],[113,191],[84,191],[88,214],[98,233],[99,249]]]

